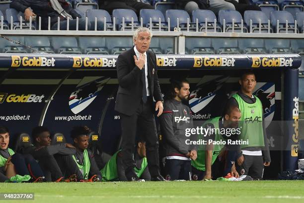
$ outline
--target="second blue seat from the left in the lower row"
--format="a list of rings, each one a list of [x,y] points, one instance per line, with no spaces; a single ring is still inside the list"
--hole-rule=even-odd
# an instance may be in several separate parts
[[[26,36],[24,37],[24,44],[28,47],[32,47],[34,50],[37,50],[37,53],[55,53],[51,47],[49,38],[45,36]],[[28,50],[28,52],[31,53],[32,50]]]

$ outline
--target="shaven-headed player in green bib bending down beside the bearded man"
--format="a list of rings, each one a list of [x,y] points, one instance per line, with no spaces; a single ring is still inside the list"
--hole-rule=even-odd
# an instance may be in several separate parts
[[[206,145],[199,146],[197,159],[191,160],[192,177],[194,180],[212,179],[212,165],[225,146],[223,141],[226,141],[227,144],[230,136],[237,136],[239,134],[237,128],[240,117],[239,109],[234,106],[226,110],[224,117],[216,117],[204,123],[204,128],[210,129],[210,131],[205,137],[199,135],[199,139],[206,140]],[[228,131],[228,129],[230,130]],[[234,129],[233,132],[231,129]],[[228,132],[230,133],[228,134]],[[219,143],[214,144],[214,141],[218,141]],[[234,161],[234,159],[232,160]],[[238,176],[235,171],[234,162],[232,166],[230,165],[229,169],[232,174]]]

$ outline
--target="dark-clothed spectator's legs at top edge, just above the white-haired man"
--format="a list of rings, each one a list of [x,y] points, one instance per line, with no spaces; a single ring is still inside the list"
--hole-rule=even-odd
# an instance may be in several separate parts
[[[149,3],[144,3],[138,0],[99,0],[99,8],[107,10],[110,14],[114,9],[126,8],[131,9],[139,15],[141,9],[154,9]]]

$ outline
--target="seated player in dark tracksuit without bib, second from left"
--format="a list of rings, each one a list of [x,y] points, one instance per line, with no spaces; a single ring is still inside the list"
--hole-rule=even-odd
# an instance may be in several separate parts
[[[46,181],[75,182],[75,175],[64,180],[64,175],[56,161],[60,156],[75,154],[75,147],[69,143],[51,145],[50,131],[44,126],[35,127],[32,130],[32,138],[34,145],[24,149],[24,153],[30,153],[39,161]]]

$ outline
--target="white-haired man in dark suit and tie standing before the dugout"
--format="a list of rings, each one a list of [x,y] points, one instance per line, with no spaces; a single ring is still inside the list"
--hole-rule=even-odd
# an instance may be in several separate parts
[[[163,111],[157,76],[156,56],[149,51],[152,32],[138,28],[133,36],[134,47],[117,59],[119,88],[115,110],[120,113],[122,144],[121,156],[128,181],[138,181],[134,171],[134,146],[137,129],[146,141],[147,159],[152,181],[165,181],[159,174],[158,138],[154,112]],[[153,102],[155,100],[155,104]]]

